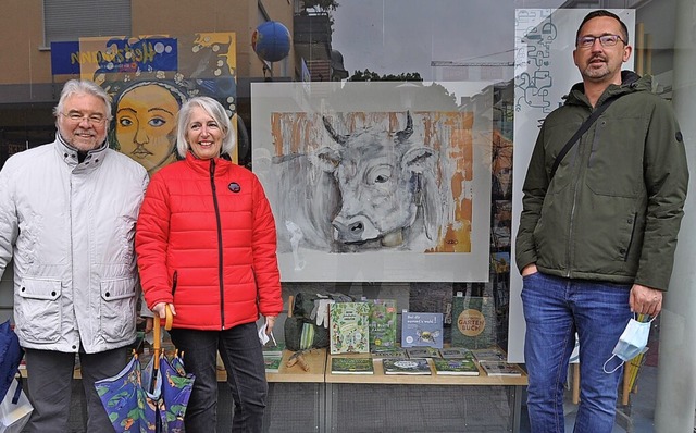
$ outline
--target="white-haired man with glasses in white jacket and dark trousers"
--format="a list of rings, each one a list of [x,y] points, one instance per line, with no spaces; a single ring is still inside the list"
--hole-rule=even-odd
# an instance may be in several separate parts
[[[14,319],[26,350],[29,432],[69,431],[79,354],[87,431],[108,432],[94,383],[119,373],[136,338],[135,223],[145,169],[109,148],[109,96],[70,81],[54,109],[55,141],[0,171],[0,275],[14,257]]]

